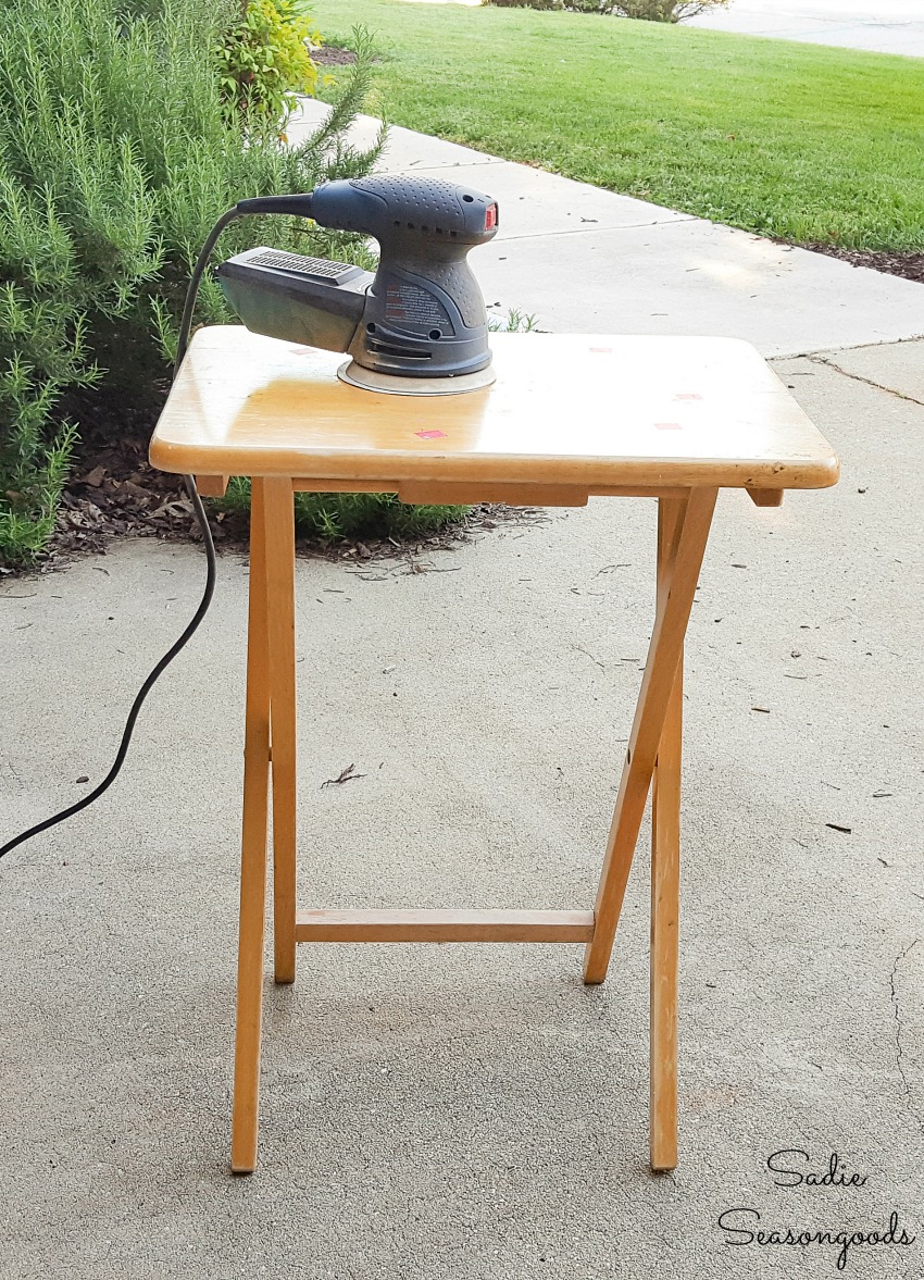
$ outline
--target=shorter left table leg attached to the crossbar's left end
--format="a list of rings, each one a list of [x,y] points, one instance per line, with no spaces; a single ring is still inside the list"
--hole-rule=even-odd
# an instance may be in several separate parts
[[[276,982],[296,980],[296,525],[292,480],[267,477],[273,902]]]

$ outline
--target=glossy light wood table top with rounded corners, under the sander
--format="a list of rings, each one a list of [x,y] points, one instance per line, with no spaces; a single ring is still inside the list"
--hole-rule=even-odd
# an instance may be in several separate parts
[[[200,475],[594,486],[820,489],[828,442],[761,356],[732,338],[509,334],[497,381],[383,396],[347,358],[216,325],[195,335],[151,463]],[[339,485],[343,488],[343,484]]]

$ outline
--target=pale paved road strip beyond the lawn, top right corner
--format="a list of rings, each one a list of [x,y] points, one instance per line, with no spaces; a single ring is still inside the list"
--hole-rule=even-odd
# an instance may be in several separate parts
[[[924,58],[924,0],[735,0],[690,26]]]

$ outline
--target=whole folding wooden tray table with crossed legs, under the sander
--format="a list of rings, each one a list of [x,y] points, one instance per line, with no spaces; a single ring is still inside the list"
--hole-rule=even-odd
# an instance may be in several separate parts
[[[607,975],[653,787],[650,1153],[677,1164],[677,923],[683,636],[721,488],[778,506],[833,485],[838,462],[747,343],[728,338],[494,334],[497,383],[385,396],[337,378],[343,357],[239,326],[200,330],[151,463],[205,494],[252,479],[247,719],[232,1167],[256,1166],[269,794],[275,980],[297,942],[584,942]],[[657,498],[654,628],[593,910],[296,910],[293,492],[410,503],[581,507]],[[271,769],[270,769],[271,765]]]

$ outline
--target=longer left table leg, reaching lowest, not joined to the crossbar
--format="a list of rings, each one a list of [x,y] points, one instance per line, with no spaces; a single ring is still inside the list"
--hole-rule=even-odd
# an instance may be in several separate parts
[[[247,622],[247,722],[241,850],[241,925],[234,1043],[232,1169],[248,1174],[257,1160],[260,1029],[266,928],[266,831],[270,778],[270,686],[266,618],[266,547],[262,481],[251,500],[251,580]]]

